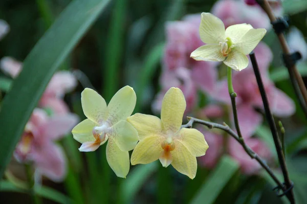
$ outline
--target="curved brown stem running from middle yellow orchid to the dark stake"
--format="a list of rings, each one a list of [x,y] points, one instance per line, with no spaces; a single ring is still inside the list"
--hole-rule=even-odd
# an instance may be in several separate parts
[[[233,131],[228,125],[226,124],[221,125],[218,123],[212,123],[212,122],[208,122],[208,121],[204,121],[204,120],[200,120],[200,119],[196,119],[192,117],[187,117],[187,118],[189,119],[189,122],[185,125],[182,125],[182,127],[191,128],[194,123],[198,123],[198,124],[207,126],[209,129],[217,128],[217,129],[221,129],[227,132],[229,135],[231,135],[231,137],[233,137],[238,143],[242,145],[246,153],[251,158],[255,159],[261,165],[261,167],[263,167],[269,173],[269,175],[273,178],[274,182],[279,186],[280,189],[282,189],[283,191],[286,190],[283,187],[282,183],[277,178],[277,176],[274,174],[274,172],[267,165],[267,163],[245,143],[243,138],[239,138],[239,135],[235,133],[235,131]]]

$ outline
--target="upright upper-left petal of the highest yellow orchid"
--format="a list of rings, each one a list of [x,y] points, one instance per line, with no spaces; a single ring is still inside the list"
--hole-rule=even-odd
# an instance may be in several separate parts
[[[225,26],[223,21],[211,13],[202,13],[200,37],[205,43],[225,41]]]

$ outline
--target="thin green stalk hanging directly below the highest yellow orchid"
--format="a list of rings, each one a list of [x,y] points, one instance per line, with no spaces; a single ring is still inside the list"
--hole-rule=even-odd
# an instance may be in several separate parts
[[[227,69],[227,83],[228,83],[228,92],[229,92],[229,96],[230,96],[230,99],[231,99],[233,121],[234,121],[235,129],[238,133],[239,138],[243,140],[241,130],[240,130],[240,126],[239,126],[236,103],[235,103],[236,93],[234,92],[234,89],[233,89],[233,86],[232,86],[231,71],[232,71],[231,68],[228,67],[228,69]]]

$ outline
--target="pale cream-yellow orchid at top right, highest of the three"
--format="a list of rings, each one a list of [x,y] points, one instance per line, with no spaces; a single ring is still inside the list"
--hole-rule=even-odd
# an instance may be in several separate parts
[[[206,44],[194,50],[191,57],[203,61],[224,61],[232,69],[241,71],[248,65],[246,55],[254,50],[266,32],[266,29],[254,29],[249,24],[237,24],[225,30],[220,18],[202,13],[200,37]]]

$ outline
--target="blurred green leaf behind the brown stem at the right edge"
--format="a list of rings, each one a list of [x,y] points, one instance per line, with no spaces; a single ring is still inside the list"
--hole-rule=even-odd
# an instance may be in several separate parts
[[[307,76],[307,64],[305,62],[298,63],[297,70],[302,77]],[[283,81],[289,79],[289,72],[286,67],[277,67],[270,73],[270,78],[274,82]]]

